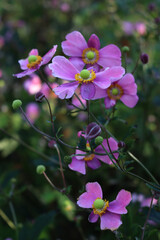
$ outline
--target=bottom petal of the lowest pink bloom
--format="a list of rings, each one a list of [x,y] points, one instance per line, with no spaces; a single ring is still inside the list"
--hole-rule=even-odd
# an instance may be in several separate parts
[[[101,216],[101,230],[110,229],[111,231],[114,231],[119,228],[121,224],[122,221],[119,214],[106,212]]]

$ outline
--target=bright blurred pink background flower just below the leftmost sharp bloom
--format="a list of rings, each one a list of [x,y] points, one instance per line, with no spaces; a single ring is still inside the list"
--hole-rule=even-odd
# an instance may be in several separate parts
[[[24,82],[24,88],[29,94],[36,94],[41,90],[42,82],[38,75],[33,74]]]

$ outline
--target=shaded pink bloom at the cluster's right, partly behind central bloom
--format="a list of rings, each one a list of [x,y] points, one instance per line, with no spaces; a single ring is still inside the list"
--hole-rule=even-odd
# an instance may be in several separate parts
[[[113,107],[117,100],[121,100],[129,108],[133,108],[138,102],[137,85],[133,75],[127,73],[118,81],[112,80],[109,88],[97,88],[94,99],[98,98],[105,98],[106,108]]]

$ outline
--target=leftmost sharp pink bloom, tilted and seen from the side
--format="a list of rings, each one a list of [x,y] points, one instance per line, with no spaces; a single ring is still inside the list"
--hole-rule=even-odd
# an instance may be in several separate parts
[[[37,71],[42,65],[47,64],[54,56],[57,49],[57,45],[54,45],[49,52],[47,52],[43,57],[39,56],[37,49],[32,49],[29,56],[26,59],[19,60],[19,64],[22,70],[21,73],[13,74],[17,78],[21,78],[27,75],[31,75],[33,72]]]

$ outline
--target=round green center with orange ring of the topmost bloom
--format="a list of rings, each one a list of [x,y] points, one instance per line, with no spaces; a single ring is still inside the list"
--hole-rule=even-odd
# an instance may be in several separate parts
[[[95,48],[86,48],[82,53],[82,60],[86,64],[95,64],[99,60],[99,51]]]

